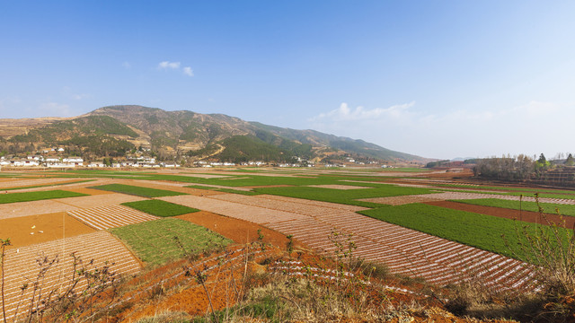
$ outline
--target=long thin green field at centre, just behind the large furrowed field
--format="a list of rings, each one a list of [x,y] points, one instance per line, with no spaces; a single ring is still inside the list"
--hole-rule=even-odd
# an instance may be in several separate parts
[[[341,184],[341,183],[337,183]],[[363,185],[361,186],[369,186]],[[332,202],[344,205],[358,205],[364,207],[381,207],[381,204],[358,201],[358,199],[387,196],[406,196],[434,193],[428,188],[405,188],[388,184],[373,185],[372,188],[359,189],[332,189],[310,187],[287,187],[287,188],[254,188],[255,192],[276,196],[289,196],[305,198],[315,201]]]

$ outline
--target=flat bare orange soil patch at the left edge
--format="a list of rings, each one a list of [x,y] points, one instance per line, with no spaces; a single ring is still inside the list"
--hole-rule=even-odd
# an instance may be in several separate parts
[[[8,249],[74,237],[93,231],[95,231],[93,228],[64,212],[0,220],[0,239],[10,238],[12,243]]]

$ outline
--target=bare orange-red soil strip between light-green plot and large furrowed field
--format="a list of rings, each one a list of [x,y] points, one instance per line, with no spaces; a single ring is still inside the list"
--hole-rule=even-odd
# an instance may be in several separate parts
[[[249,243],[258,240],[258,230],[261,230],[263,241],[266,243],[270,243],[274,246],[286,246],[286,243],[288,243],[288,238],[278,231],[270,230],[256,223],[213,214],[207,211],[183,214],[176,217],[190,221],[190,223],[199,224],[237,243]],[[303,245],[296,240],[294,240],[294,244],[295,246],[303,247]]]

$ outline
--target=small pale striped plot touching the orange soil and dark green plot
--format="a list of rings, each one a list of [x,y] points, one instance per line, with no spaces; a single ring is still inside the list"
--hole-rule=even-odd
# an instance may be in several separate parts
[[[158,219],[127,206],[109,205],[70,211],[68,214],[98,230],[117,228],[120,226],[142,223]]]

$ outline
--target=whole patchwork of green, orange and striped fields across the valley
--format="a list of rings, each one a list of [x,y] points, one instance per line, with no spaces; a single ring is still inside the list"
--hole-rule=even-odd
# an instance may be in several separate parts
[[[335,250],[334,232],[349,234],[356,256],[429,284],[473,277],[504,290],[533,290],[534,267],[522,261],[529,258],[517,248],[522,241],[517,228],[531,225],[525,214],[538,210],[531,193],[539,194],[545,212],[559,207],[562,214],[575,216],[570,191],[482,185],[454,175],[415,169],[11,174],[0,183],[10,191],[0,195],[0,239],[13,241],[5,272],[21,261],[33,262],[37,254],[22,251],[33,247],[46,248],[51,257],[77,249],[86,258],[97,258],[94,266],[115,262],[119,273],[132,275],[185,255],[256,240],[261,233],[253,228],[260,228],[266,232],[261,237],[279,247],[290,236],[301,248],[323,256]],[[526,222],[491,212],[515,214],[519,199]],[[247,224],[240,223],[253,227],[243,235],[238,225]],[[93,242],[96,254],[90,243],[76,243],[75,237],[103,242]],[[119,254],[129,254],[129,260],[114,260]],[[10,291],[21,283],[18,279],[7,276]]]

